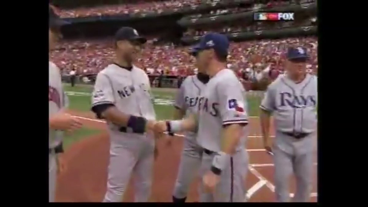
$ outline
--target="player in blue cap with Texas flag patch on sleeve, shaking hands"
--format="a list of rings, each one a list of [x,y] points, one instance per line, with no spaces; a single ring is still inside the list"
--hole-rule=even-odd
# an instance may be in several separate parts
[[[198,115],[156,124],[157,132],[198,129],[197,142],[204,148],[201,202],[243,202],[245,199],[248,115],[243,85],[232,70],[226,69],[228,48],[229,41],[224,35],[209,33],[201,38],[195,46],[197,65],[206,69],[210,80],[198,99]]]

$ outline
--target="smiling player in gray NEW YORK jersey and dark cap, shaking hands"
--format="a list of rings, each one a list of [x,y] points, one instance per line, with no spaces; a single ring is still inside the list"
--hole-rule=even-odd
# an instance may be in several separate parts
[[[116,59],[96,78],[92,111],[106,119],[110,135],[107,192],[103,202],[119,202],[131,174],[135,176],[135,201],[149,199],[154,161],[155,111],[147,74],[132,65],[144,37],[130,27],[115,35]]]

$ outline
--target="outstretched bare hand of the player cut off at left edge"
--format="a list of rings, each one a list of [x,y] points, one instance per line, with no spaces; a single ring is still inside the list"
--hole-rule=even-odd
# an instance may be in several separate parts
[[[72,132],[82,127],[82,123],[79,119],[72,117],[70,114],[63,111],[56,113],[49,118],[49,124],[51,129],[64,130]]]

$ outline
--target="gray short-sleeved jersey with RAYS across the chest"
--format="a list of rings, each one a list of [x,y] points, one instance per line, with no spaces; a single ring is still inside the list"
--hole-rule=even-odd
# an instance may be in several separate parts
[[[265,93],[260,108],[273,112],[275,129],[312,133],[316,130],[317,77],[307,74],[301,83],[279,76]]]

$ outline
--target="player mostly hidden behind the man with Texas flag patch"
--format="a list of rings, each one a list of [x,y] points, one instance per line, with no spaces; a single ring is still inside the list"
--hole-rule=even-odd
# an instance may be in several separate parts
[[[197,57],[197,51],[191,51],[191,55]],[[199,95],[209,81],[209,76],[204,72],[204,68],[199,65],[198,74],[188,76],[181,84],[176,96],[174,119],[183,119],[185,115],[197,113]],[[179,172],[173,192],[174,203],[185,202],[190,183],[198,175],[203,148],[198,145],[196,138],[197,134],[193,131],[185,134],[184,148],[181,152]]]

